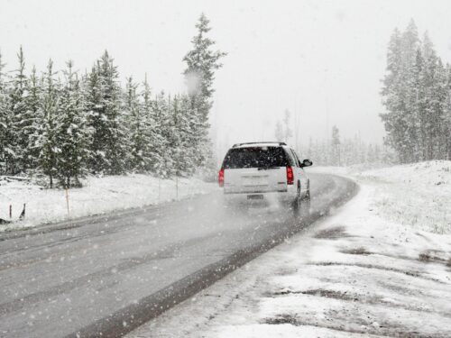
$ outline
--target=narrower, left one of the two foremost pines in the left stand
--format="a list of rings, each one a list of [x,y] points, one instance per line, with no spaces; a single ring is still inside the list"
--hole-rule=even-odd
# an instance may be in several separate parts
[[[42,123],[39,138],[36,142],[40,150],[39,168],[49,177],[50,187],[53,187],[54,178],[58,175],[58,154],[60,153],[57,144],[57,113],[60,85],[54,77],[53,62],[50,60],[47,72],[44,74],[39,113],[42,115]]]

